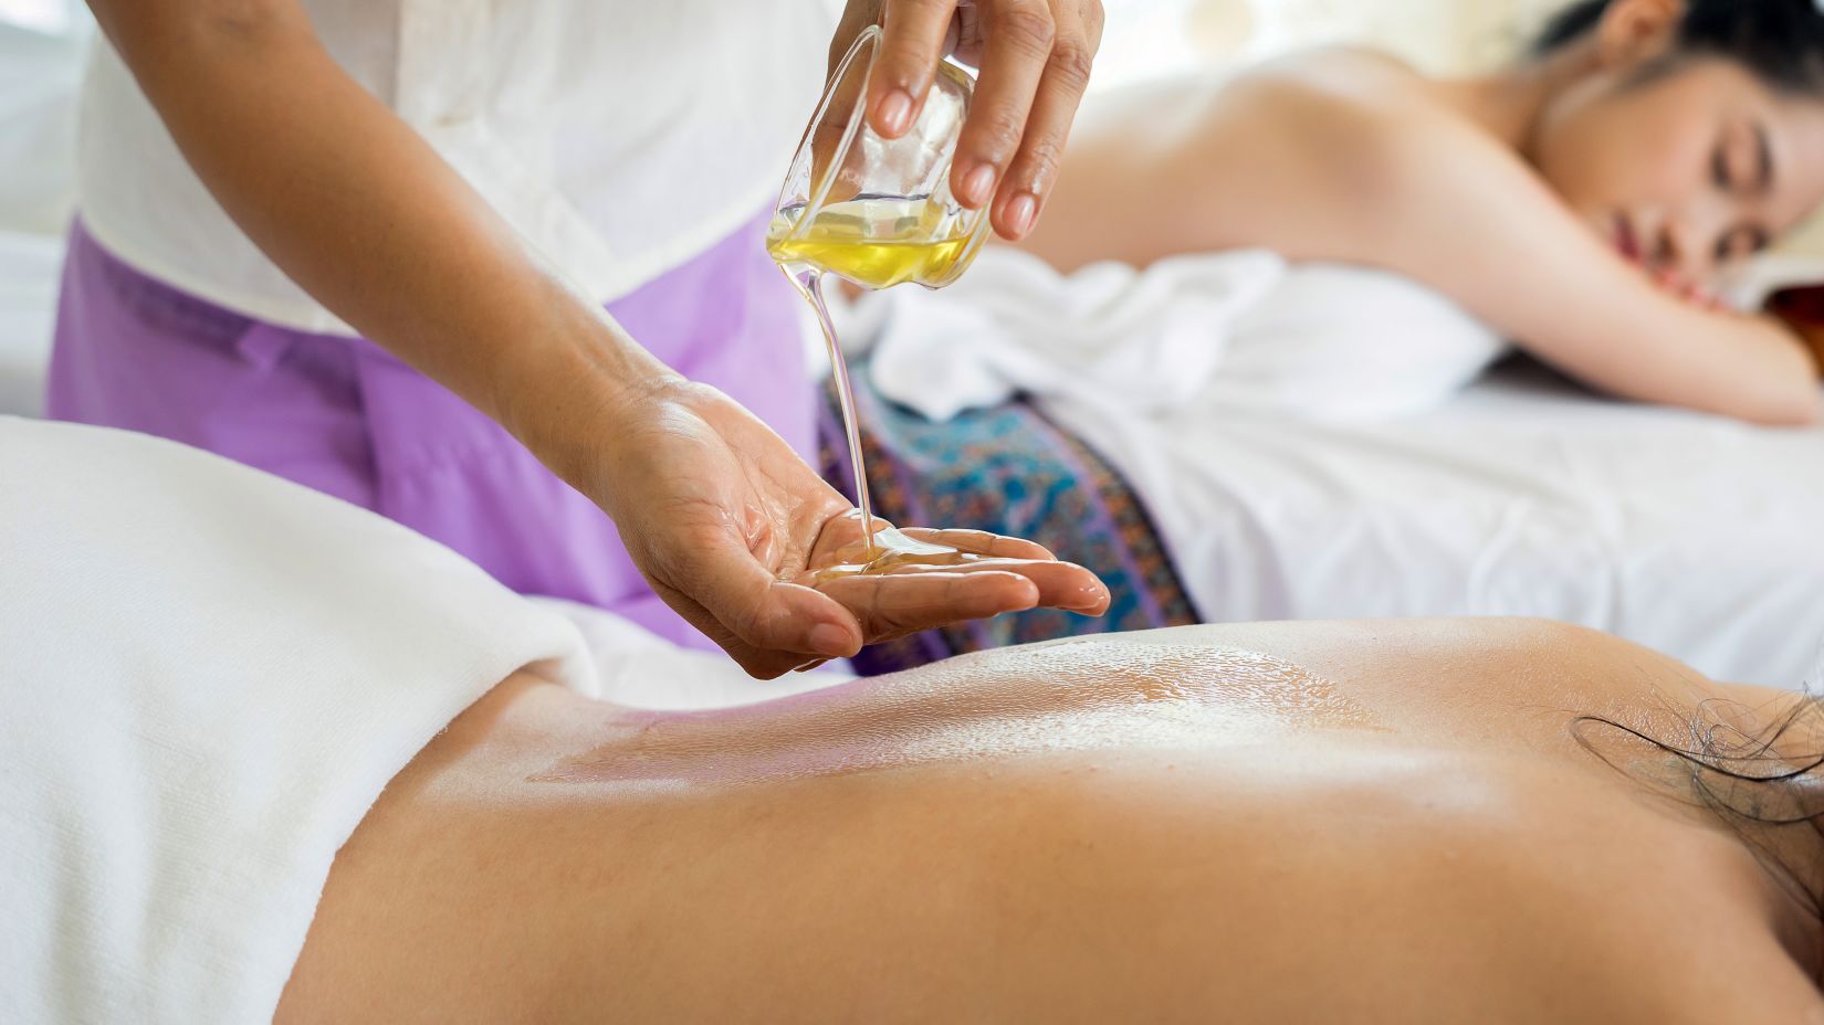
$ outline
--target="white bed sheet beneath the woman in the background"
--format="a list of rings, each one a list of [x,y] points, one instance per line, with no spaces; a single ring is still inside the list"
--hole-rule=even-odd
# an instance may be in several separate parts
[[[1824,429],[1612,403],[1536,367],[1383,425],[1047,410],[1153,512],[1209,622],[1550,616],[1819,682]]]

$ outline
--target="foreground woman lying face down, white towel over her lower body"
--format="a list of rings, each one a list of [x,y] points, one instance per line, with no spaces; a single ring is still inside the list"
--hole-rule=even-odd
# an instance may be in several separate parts
[[[9,1020],[1824,1021],[1817,709],[1603,635],[1191,627],[655,713],[213,456],[0,423],[0,476]],[[675,658],[604,668],[739,675]]]

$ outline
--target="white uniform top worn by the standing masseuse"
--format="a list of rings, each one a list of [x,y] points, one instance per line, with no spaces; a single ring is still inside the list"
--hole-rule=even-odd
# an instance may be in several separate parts
[[[837,7],[301,2],[356,82],[602,301],[713,246],[777,195]],[[235,228],[106,40],[84,84],[80,139],[82,221],[117,257],[268,323],[354,334]]]

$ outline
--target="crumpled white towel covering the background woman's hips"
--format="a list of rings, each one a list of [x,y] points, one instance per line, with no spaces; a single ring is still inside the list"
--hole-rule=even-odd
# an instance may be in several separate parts
[[[1138,416],[1220,403],[1381,419],[1437,405],[1505,348],[1412,281],[1266,250],[1063,275],[990,248],[943,292],[863,299],[850,330],[868,316],[881,394],[932,419],[1016,392]]]

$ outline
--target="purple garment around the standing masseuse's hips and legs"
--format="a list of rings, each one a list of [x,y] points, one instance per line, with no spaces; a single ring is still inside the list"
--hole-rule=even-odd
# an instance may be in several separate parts
[[[607,308],[693,381],[814,454],[797,295],[759,219]],[[522,595],[710,642],[646,585],[615,525],[500,425],[363,339],[255,321],[69,235],[49,414],[221,452],[398,520]]]

